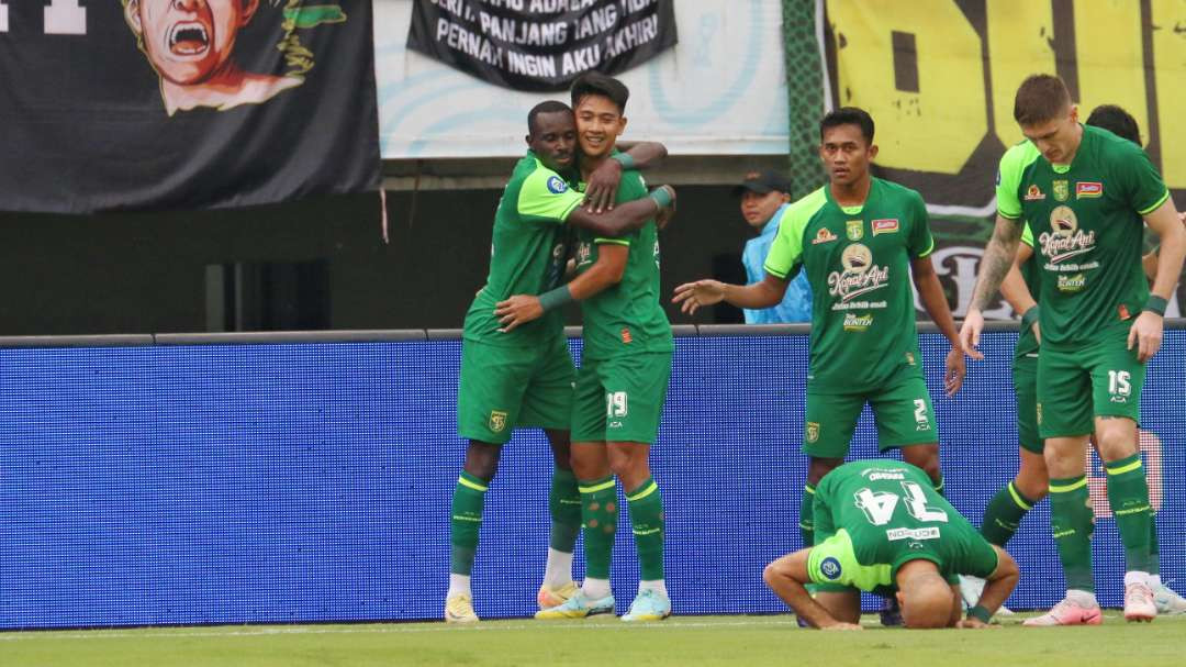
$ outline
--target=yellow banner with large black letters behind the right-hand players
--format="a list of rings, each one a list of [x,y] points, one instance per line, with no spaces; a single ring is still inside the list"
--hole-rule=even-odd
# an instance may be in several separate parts
[[[997,163],[1024,139],[1013,101],[1031,74],[1060,76],[1080,122],[1101,104],[1131,114],[1179,210],[1186,208],[1180,0],[817,2],[825,94],[833,107],[873,116],[874,172],[922,192],[939,246],[936,268],[957,317],[991,233]],[[1180,284],[1167,315],[1180,315],[1184,304]],[[1010,313],[1002,299],[986,316]]]

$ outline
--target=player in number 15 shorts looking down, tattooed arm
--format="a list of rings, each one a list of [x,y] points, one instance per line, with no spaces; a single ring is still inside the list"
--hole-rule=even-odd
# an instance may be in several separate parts
[[[1149,489],[1137,447],[1146,362],[1186,256],[1186,229],[1148,155],[1084,127],[1063,81],[1033,75],[1014,100],[1026,141],[1001,158],[997,216],[961,338],[980,342],[982,309],[1016,255],[1024,224],[1041,268],[1037,421],[1050,475],[1051,528],[1066,598],[1028,625],[1098,624],[1091,568],[1093,516],[1084,476],[1093,433],[1124,545],[1124,617],[1152,621],[1155,568]],[[1141,221],[1161,237],[1152,293],[1141,265]]]

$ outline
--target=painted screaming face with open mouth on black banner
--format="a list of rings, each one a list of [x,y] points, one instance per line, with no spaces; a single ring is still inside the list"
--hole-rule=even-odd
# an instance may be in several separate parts
[[[236,64],[238,31],[259,8],[260,0],[123,0],[125,19],[160,76],[168,115],[257,104],[304,82],[247,72]]]

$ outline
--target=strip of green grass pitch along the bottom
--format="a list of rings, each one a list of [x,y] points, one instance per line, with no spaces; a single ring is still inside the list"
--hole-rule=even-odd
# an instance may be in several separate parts
[[[795,627],[790,616],[687,616],[633,627],[483,621],[366,625],[236,625],[0,633],[0,665],[88,666],[750,666],[1179,665],[1186,616],[1129,625],[1117,611],[1095,628],[910,631],[866,617],[860,633]]]

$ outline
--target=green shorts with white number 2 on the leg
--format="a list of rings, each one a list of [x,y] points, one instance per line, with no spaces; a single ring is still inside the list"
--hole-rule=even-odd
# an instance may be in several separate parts
[[[822,394],[808,388],[803,453],[844,458],[868,402],[878,425],[878,451],[939,442],[931,394],[920,370],[912,369],[880,389],[854,394]]]

